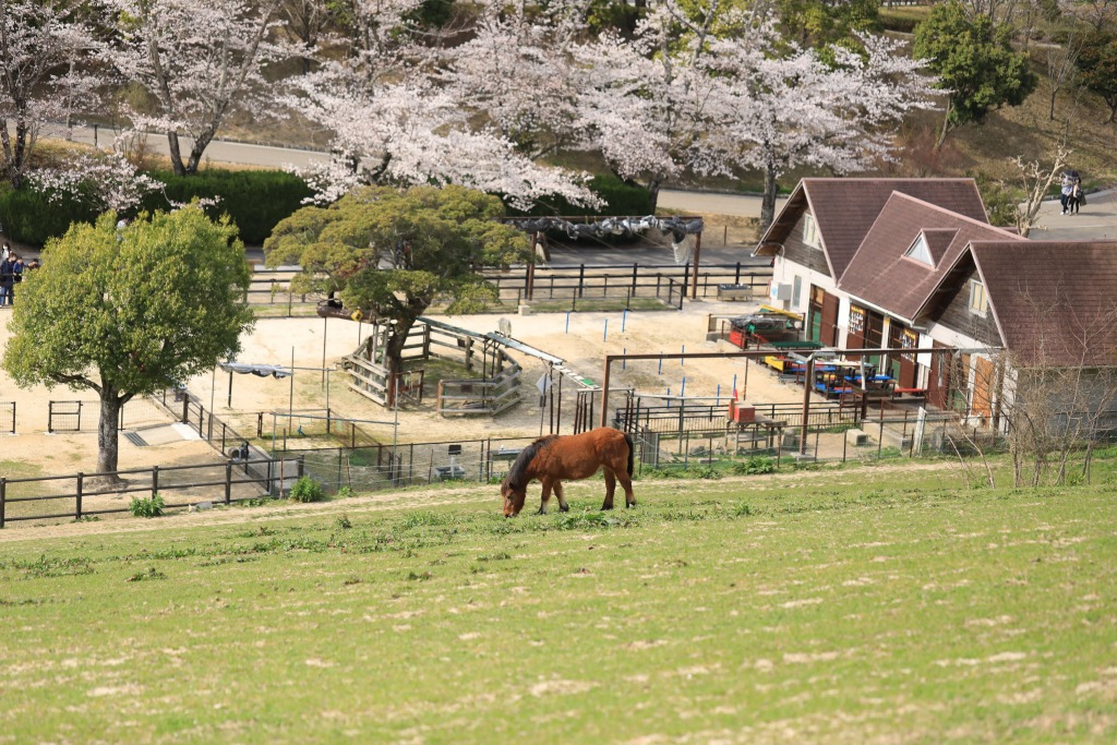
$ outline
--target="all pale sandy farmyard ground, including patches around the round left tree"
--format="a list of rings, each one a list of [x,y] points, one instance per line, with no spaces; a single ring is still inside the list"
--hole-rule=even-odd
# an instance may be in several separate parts
[[[603,356],[630,353],[680,353],[736,351],[726,342],[707,342],[706,327],[709,314],[739,315],[752,305],[744,303],[688,303],[682,312],[642,312],[626,315],[614,313],[540,314],[506,316],[512,324],[512,336],[548,354],[562,357],[567,367],[581,378],[601,384]],[[7,343],[8,318],[0,316],[0,345]],[[448,316],[447,323],[477,332],[496,331],[500,316]],[[328,405],[334,417],[362,421],[362,428],[375,437],[390,441],[393,429],[401,442],[421,442],[456,439],[524,437],[537,434],[541,428],[550,431],[551,409],[541,410],[535,382],[546,372],[544,363],[522,353],[513,355],[524,366],[524,393],[512,410],[493,419],[487,417],[439,417],[433,411],[433,390],[429,390],[423,404],[405,404],[399,412],[382,407],[350,391],[344,373],[335,369],[342,356],[351,353],[359,340],[370,332],[369,325],[347,321],[321,318],[264,318],[245,337],[240,362],[289,366],[294,356],[294,379],[275,380],[254,375],[233,375],[216,371],[188,381],[188,388],[203,402],[211,402],[218,418],[245,433],[252,436],[258,426],[265,437],[273,430],[273,418],[267,412],[313,411],[322,416]],[[325,364],[323,364],[323,361]],[[330,370],[324,373],[322,367]],[[628,386],[643,394],[679,394],[684,388],[688,397],[715,397],[727,401],[734,381],[744,397],[753,402],[802,400],[802,389],[781,384],[771,373],[755,363],[736,360],[678,360],[627,363],[613,365],[611,384],[617,393],[612,405],[620,405]],[[432,386],[429,386],[432,388]],[[574,386],[563,385],[561,402],[555,401],[558,431],[570,432],[574,414]],[[231,397],[230,397],[231,393]],[[80,433],[47,434],[49,401],[83,401],[83,426],[89,431]],[[231,405],[230,405],[231,400]],[[65,386],[48,390],[45,386],[18,389],[0,371],[0,402],[17,402],[16,436],[0,438],[0,475],[74,474],[93,471],[96,466],[96,395],[92,391],[71,391]],[[217,453],[202,441],[184,440],[165,427],[163,417],[147,404],[137,416],[141,436],[150,447],[137,447],[121,439],[121,467],[142,468],[152,465],[180,465],[207,461]],[[210,408],[209,405],[207,407]],[[262,413],[262,417],[261,417]],[[595,402],[594,422],[600,416],[600,399]],[[397,420],[398,417],[398,420]],[[281,431],[284,419],[276,420]],[[314,423],[309,417],[296,420],[299,424]],[[163,424],[161,429],[150,428]],[[30,469],[30,470],[29,470]],[[8,472],[2,472],[8,471]]]

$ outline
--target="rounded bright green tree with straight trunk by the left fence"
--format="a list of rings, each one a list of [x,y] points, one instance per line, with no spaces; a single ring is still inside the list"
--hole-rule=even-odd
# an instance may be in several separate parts
[[[97,470],[115,471],[121,407],[240,350],[249,277],[236,227],[198,206],[76,222],[19,285],[3,369],[21,386],[96,391]]]

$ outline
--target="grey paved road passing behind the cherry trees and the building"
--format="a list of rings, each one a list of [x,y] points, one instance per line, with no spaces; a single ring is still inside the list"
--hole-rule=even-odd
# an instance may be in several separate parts
[[[57,134],[57,133],[55,133]],[[82,127],[75,131],[75,140],[80,142],[94,142],[94,130]],[[101,128],[96,133],[97,142],[107,145],[112,139],[112,132]],[[152,135],[149,144],[157,152],[166,153],[166,137]],[[185,143],[183,143],[185,147]],[[323,151],[295,150],[290,147],[277,147],[267,145],[256,145],[248,143],[229,142],[217,140],[206,149],[206,159],[219,163],[241,163],[249,165],[260,165],[279,168],[286,164],[305,166],[315,161],[325,161],[328,157]],[[779,200],[776,211],[783,207],[785,200]],[[717,214],[733,214],[743,217],[758,217],[761,212],[761,199],[752,194],[725,194],[710,192],[679,191],[665,189],[659,194],[659,203],[662,207],[678,209],[686,212],[707,212]],[[1030,236],[1033,240],[1117,240],[1117,192],[1098,192],[1087,195],[1087,207],[1080,214],[1062,216],[1058,201],[1046,202],[1040,211],[1037,227]],[[595,261],[611,261],[608,249],[592,249],[600,256]],[[744,260],[743,255],[747,251],[737,249],[705,249],[703,260],[717,262],[733,262]],[[628,249],[618,249],[612,255],[615,262],[629,262],[634,259]],[[707,259],[708,257],[708,259]],[[555,257],[555,260],[565,260]],[[656,260],[655,254],[648,259],[652,262],[663,262]],[[577,264],[577,261],[574,261]]]

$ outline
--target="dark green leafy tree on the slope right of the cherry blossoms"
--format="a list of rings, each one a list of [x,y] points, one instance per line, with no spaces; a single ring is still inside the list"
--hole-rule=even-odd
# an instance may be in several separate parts
[[[989,16],[967,17],[958,0],[932,8],[915,31],[915,56],[927,60],[948,92],[938,145],[947,132],[967,122],[981,123],[993,108],[1019,106],[1039,78],[1028,56],[1012,49],[1010,31]]]

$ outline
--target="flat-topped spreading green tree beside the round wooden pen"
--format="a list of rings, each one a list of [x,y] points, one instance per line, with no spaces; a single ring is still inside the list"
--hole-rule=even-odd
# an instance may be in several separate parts
[[[464,187],[366,187],[295,212],[264,251],[268,266],[302,265],[296,290],[337,293],[346,307],[389,322],[384,360],[394,376],[408,332],[436,298],[452,298],[450,313],[475,312],[496,299],[477,268],[531,260],[526,236],[502,216],[499,199]]]

